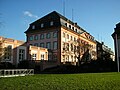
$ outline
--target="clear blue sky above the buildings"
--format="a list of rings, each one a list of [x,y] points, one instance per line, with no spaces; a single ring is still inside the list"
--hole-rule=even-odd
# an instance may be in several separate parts
[[[114,49],[111,34],[120,22],[120,0],[0,0],[0,36],[26,40],[29,24],[57,11],[77,22],[95,39]]]

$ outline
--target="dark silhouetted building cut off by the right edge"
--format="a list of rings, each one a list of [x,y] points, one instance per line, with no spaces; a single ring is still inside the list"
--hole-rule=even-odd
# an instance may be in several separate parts
[[[112,37],[114,39],[114,46],[115,46],[115,61],[119,62],[120,60],[120,23],[116,24]]]

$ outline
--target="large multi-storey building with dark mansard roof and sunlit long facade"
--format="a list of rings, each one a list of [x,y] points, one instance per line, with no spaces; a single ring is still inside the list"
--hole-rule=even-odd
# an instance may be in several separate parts
[[[96,59],[94,37],[56,11],[31,23],[25,33],[27,46],[47,48],[48,61],[57,62],[57,65],[76,65],[79,58],[83,61]]]

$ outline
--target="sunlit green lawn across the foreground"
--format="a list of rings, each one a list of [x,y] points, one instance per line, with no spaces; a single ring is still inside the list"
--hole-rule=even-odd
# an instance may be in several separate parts
[[[120,90],[120,73],[39,74],[0,78],[0,90]]]

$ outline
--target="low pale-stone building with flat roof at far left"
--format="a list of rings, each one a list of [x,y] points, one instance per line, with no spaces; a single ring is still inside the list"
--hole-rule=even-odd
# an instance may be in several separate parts
[[[17,66],[23,60],[48,60],[48,51],[46,48],[28,47],[23,41],[0,37],[0,62]]]

